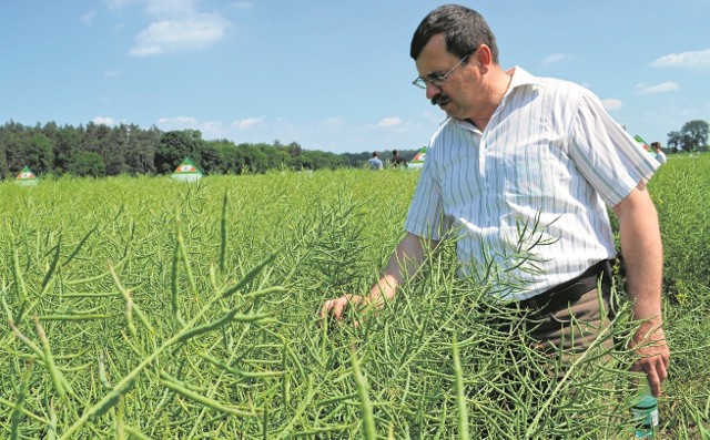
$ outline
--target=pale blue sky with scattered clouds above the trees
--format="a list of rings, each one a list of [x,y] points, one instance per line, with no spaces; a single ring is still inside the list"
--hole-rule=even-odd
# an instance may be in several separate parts
[[[436,1],[22,0],[0,6],[0,123],[134,123],[335,153],[414,150],[444,113],[410,84]],[[500,64],[595,91],[631,134],[710,121],[710,0],[463,2]]]

